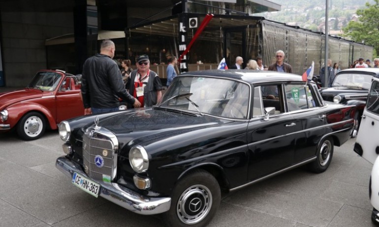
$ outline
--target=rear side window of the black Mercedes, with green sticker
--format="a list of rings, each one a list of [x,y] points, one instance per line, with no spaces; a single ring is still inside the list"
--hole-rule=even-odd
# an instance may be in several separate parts
[[[285,97],[289,112],[317,106],[316,96],[310,85],[285,85]]]

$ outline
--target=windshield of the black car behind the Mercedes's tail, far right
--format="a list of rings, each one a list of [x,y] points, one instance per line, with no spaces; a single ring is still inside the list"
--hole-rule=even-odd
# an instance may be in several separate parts
[[[373,76],[366,74],[339,74],[333,82],[333,87],[344,86],[347,89],[369,90]]]

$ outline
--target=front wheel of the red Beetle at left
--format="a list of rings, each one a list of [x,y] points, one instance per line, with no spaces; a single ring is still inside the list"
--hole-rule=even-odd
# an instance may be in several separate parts
[[[45,133],[46,122],[42,114],[25,114],[17,124],[17,134],[26,141],[36,140]]]

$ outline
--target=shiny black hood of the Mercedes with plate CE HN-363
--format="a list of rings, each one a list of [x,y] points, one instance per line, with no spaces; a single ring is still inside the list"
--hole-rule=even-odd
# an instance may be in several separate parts
[[[168,137],[218,127],[231,122],[235,121],[208,115],[142,109],[102,118],[98,126],[114,133],[119,142],[123,143],[120,145],[123,146],[132,140],[134,144],[149,144]],[[187,140],[189,139],[192,138],[187,138]]]

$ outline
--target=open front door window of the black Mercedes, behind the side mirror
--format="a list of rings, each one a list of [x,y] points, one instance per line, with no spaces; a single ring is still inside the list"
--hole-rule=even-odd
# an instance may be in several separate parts
[[[275,114],[284,113],[281,85],[262,85],[263,108],[275,107]]]

